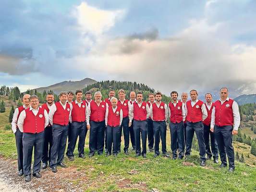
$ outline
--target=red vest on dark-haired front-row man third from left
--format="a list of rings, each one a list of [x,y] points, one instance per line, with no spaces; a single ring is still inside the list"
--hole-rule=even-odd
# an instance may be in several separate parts
[[[75,103],[75,101],[72,102],[72,111],[71,111],[71,117],[72,122],[84,122],[85,121],[85,111],[86,111],[86,103],[85,101],[82,101],[81,108],[79,108],[78,104]]]

